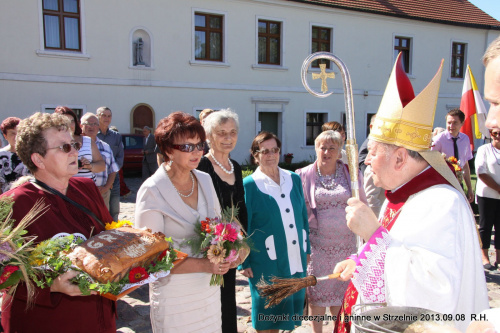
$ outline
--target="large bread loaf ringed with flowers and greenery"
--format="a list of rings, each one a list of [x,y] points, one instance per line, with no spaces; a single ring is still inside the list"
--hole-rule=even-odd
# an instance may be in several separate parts
[[[107,227],[123,224],[113,223]],[[41,288],[50,287],[59,275],[73,269],[79,274],[72,281],[82,294],[119,295],[141,282],[169,274],[180,253],[171,249],[170,243],[162,233],[127,225],[86,241],[74,235],[46,240],[30,254],[33,280]]]

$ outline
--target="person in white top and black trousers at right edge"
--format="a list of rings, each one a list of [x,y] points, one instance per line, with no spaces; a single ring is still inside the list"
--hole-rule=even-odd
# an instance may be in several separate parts
[[[483,266],[494,270],[500,263],[500,128],[490,129],[491,143],[478,148],[476,166],[476,200],[479,208],[479,236],[482,242]],[[492,228],[495,227],[496,262],[488,257]]]

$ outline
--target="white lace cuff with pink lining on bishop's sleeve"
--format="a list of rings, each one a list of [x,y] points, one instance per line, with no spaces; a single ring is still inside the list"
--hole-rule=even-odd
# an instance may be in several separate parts
[[[389,233],[384,230],[381,237],[374,237],[373,243],[365,247],[361,259],[352,277],[352,283],[366,303],[384,303],[385,294],[385,254],[391,243]]]

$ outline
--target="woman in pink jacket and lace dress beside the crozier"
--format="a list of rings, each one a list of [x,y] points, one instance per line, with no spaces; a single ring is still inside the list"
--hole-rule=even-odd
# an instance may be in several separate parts
[[[345,208],[351,197],[351,181],[347,165],[339,159],[344,139],[342,134],[327,130],[314,140],[316,161],[295,172],[302,179],[311,237],[311,256],[307,273],[314,276],[331,274],[335,265],[356,252],[356,235],[347,227]],[[366,203],[363,177],[359,177],[361,200]],[[319,281],[307,288],[310,315],[324,315],[326,308],[336,315],[342,305],[348,282]],[[313,332],[321,333],[323,323],[312,322]]]

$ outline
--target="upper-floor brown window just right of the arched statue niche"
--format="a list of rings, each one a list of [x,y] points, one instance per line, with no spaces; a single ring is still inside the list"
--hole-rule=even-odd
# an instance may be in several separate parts
[[[195,59],[222,61],[222,16],[195,14]]]

